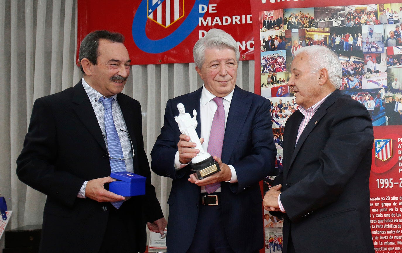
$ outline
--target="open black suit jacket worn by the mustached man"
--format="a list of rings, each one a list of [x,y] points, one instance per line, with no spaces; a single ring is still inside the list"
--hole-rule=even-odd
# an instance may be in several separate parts
[[[123,217],[127,233],[133,235],[128,243],[144,251],[146,222],[163,214],[150,183],[141,106],[124,94],[118,94],[117,101],[133,142],[134,173],[147,178],[146,195],[127,200],[119,212],[127,214]],[[85,180],[110,175],[105,141],[81,82],[35,101],[24,148],[17,159],[17,175],[47,195],[41,252],[98,252],[109,212],[115,209],[109,202],[77,198]]]

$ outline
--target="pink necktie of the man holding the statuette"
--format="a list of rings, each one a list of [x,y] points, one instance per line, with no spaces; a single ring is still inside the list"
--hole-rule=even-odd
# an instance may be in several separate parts
[[[215,97],[212,99],[218,106],[213,115],[211,133],[209,134],[208,150],[207,152],[212,156],[221,158],[222,156],[222,144],[224,143],[225,135],[225,107],[223,98]],[[205,186],[205,190],[211,194],[221,187],[220,182],[208,184]]]

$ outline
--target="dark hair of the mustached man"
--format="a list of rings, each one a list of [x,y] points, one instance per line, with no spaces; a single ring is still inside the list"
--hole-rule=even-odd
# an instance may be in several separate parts
[[[81,41],[80,53],[78,54],[78,60],[81,62],[82,59],[88,59],[92,64],[96,65],[98,62],[96,59],[99,56],[98,46],[99,40],[106,39],[111,42],[124,42],[124,36],[121,33],[113,33],[106,30],[93,31],[88,33],[85,38]],[[84,69],[80,66],[82,73]]]

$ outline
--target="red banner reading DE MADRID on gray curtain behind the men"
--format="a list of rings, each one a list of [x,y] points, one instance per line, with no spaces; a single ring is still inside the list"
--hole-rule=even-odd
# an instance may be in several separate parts
[[[195,42],[219,28],[238,42],[241,60],[252,60],[250,2],[230,6],[232,0],[79,0],[77,55],[88,33],[109,30],[124,35],[131,64],[189,63]]]

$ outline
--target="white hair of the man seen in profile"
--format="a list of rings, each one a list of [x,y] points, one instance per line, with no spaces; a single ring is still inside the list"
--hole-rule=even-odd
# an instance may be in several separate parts
[[[324,46],[302,47],[295,51],[295,57],[304,53],[308,57],[308,64],[311,67],[311,73],[317,73],[320,69],[328,71],[328,81],[335,89],[340,88],[342,79],[342,65],[330,49]]]

